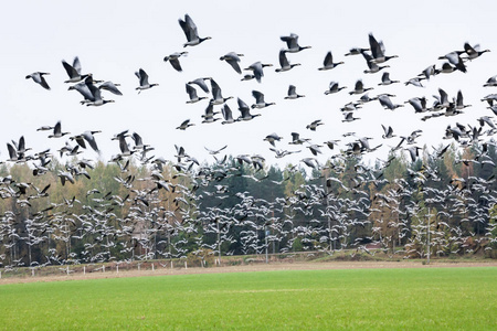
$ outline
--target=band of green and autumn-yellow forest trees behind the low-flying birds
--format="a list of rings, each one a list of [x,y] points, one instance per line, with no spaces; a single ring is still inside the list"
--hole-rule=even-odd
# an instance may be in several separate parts
[[[181,149],[181,148],[179,148]],[[426,150],[426,149],[425,149]],[[105,261],[377,247],[404,258],[497,256],[496,147],[440,146],[414,162],[342,152],[326,164],[267,166],[56,157],[0,169],[0,264]]]

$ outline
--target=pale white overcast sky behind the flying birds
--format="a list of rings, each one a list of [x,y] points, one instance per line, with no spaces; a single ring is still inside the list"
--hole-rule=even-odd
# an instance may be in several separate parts
[[[383,140],[381,124],[391,125],[398,136],[408,136],[415,129],[423,130],[419,146],[436,146],[442,141],[448,124],[456,121],[476,126],[476,118],[493,115],[480,102],[483,96],[495,93],[497,88],[484,88],[486,79],[497,74],[497,39],[495,38],[495,1],[313,1],[303,6],[302,1],[10,1],[6,4],[4,15],[0,20],[2,51],[0,70],[2,73],[0,109],[2,109],[2,130],[0,130],[0,160],[8,158],[6,142],[24,136],[27,145],[33,151],[61,148],[65,137],[47,139],[50,132],[38,132],[36,128],[54,125],[62,120],[63,131],[73,135],[85,130],[102,130],[96,136],[103,150],[103,159],[119,152],[118,143],[110,137],[121,130],[136,131],[145,143],[156,150],[151,154],[172,159],[175,145],[183,146],[187,152],[199,160],[211,160],[204,147],[216,149],[228,145],[225,152],[233,156],[260,153],[267,163],[276,162],[263,141],[268,134],[284,137],[277,145],[279,149],[296,150],[300,153],[284,158],[278,162],[298,162],[311,157],[305,147],[288,145],[290,132],[299,132],[314,143],[329,139],[341,139],[342,143],[353,138],[342,138],[348,131],[358,137],[373,137],[371,146],[383,143],[377,154],[387,157],[389,147],[398,143],[399,138]],[[178,19],[186,13],[195,22],[201,36],[212,36],[201,45],[183,49],[184,34]],[[294,70],[275,73],[278,67],[278,52],[285,44],[279,40],[289,33],[299,35],[300,45],[311,45],[310,50],[288,54],[290,63],[300,63]],[[425,88],[395,84],[377,86],[381,73],[363,74],[367,68],[361,55],[343,56],[350,47],[368,47],[368,33],[382,40],[387,55],[399,55],[389,61],[392,79],[405,82],[416,76],[429,65],[442,65],[440,55],[463,50],[464,42],[479,43],[485,53],[480,58],[467,63],[467,73],[438,75],[432,78]],[[188,57],[181,57],[182,73],[176,72],[165,55],[188,51]],[[219,60],[228,52],[245,54],[242,68],[256,61],[272,63],[265,68],[262,84],[255,81],[241,82],[231,66]],[[335,70],[319,72],[328,51],[336,62],[345,64]],[[80,105],[82,96],[67,90],[66,73],[61,60],[72,62],[78,56],[83,73],[93,73],[96,79],[119,83],[124,96],[114,96],[103,92],[115,104],[102,107]],[[150,83],[160,85],[137,94],[138,79],[135,71],[142,67],[149,74]],[[25,79],[32,72],[49,72],[46,77],[52,90],[45,90]],[[220,121],[201,125],[208,100],[187,105],[188,95],[184,83],[198,77],[211,76],[221,86],[223,96],[233,96],[228,104],[236,110],[236,97],[246,104],[254,103],[252,89],[261,90],[266,102],[275,106],[254,109],[262,116],[248,122],[222,126]],[[374,86],[370,96],[378,93],[395,94],[394,103],[403,103],[414,96],[429,97],[437,88],[445,89],[455,97],[458,89],[465,96],[465,103],[473,105],[457,117],[441,117],[421,121],[410,105],[395,111],[383,110],[378,102],[367,104],[355,113],[361,120],[343,124],[339,108],[357,100],[359,96],[349,96],[355,82],[362,78],[366,86]],[[324,95],[330,81],[337,81],[349,89],[338,95]],[[289,84],[297,86],[305,98],[285,100]],[[199,95],[203,92],[199,88]],[[215,106],[221,110],[221,106]],[[184,119],[190,118],[194,127],[186,131],[176,130]],[[306,125],[321,119],[325,125],[313,132]],[[130,140],[129,140],[130,141]],[[325,161],[336,153],[322,148],[319,157]],[[92,150],[83,157],[96,158]]]

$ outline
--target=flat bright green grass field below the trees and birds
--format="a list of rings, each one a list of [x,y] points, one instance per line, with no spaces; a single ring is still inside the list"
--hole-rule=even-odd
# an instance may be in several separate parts
[[[497,268],[0,285],[3,330],[497,330]]]

